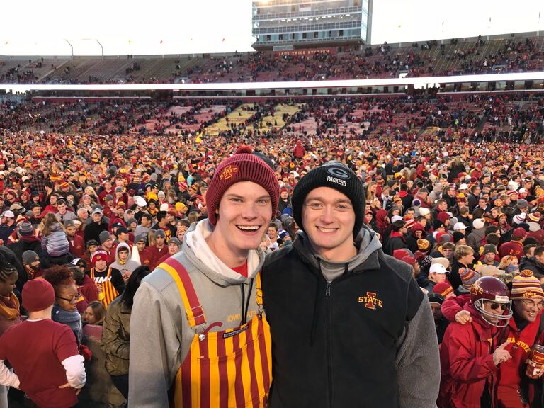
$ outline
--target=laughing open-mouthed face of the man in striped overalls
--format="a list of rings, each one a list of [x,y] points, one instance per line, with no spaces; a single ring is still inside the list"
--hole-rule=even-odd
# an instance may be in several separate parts
[[[212,234],[215,251],[229,251],[233,257],[243,259],[247,251],[259,246],[268,229],[272,200],[259,184],[240,181],[225,191],[217,211],[219,216]]]

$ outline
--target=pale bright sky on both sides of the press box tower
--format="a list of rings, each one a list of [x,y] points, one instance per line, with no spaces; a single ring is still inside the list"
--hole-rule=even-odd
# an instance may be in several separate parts
[[[81,4],[81,6],[77,6]],[[544,1],[374,0],[372,42],[544,30]],[[249,51],[251,0],[4,1],[0,55]],[[542,14],[542,18],[540,18]]]

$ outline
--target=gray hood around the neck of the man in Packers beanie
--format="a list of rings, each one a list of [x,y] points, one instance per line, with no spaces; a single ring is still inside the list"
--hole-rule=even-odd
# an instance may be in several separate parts
[[[303,231],[297,232],[297,239],[293,245],[301,256],[314,268],[317,268],[323,274],[327,282],[332,282],[334,279],[339,278],[348,273],[348,271],[363,271],[368,268],[373,268],[374,265],[363,265],[363,263],[372,255],[375,251],[382,248],[378,235],[367,227],[362,227],[359,231],[353,244],[356,246],[357,254],[351,259],[346,261],[328,261],[321,256],[314,253],[308,239],[307,234]]]

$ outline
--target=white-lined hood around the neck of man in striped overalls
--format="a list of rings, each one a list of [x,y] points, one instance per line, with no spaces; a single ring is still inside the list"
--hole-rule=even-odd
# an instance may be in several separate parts
[[[208,278],[222,286],[239,285],[244,283],[261,270],[264,263],[264,252],[258,249],[248,251],[247,278],[229,268],[210,249],[206,238],[213,232],[213,226],[208,219],[193,222],[183,237],[183,254],[198,266]]]

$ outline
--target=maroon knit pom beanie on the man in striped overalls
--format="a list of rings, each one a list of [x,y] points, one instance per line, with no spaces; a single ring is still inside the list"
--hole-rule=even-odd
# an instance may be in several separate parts
[[[272,217],[276,217],[280,187],[278,178],[263,159],[251,154],[251,147],[240,147],[236,153],[223,161],[210,181],[208,193],[206,193],[206,206],[208,207],[208,220],[215,226],[217,214],[215,210],[225,191],[234,183],[240,181],[253,181],[263,187],[272,201]]]

